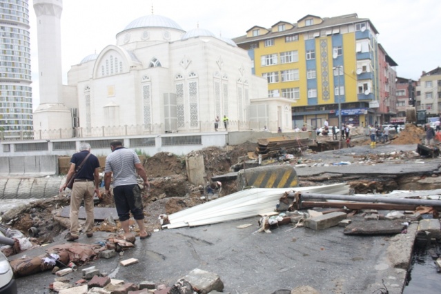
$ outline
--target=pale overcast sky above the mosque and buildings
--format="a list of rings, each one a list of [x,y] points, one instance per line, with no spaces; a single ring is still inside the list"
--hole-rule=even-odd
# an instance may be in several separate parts
[[[39,105],[38,50],[33,0],[29,0],[33,108]],[[398,77],[418,80],[422,71],[441,66],[439,0],[63,0],[61,56],[63,83],[70,67],[108,45],[133,20],[152,14],[176,21],[183,30],[204,28],[233,39],[253,26],[296,23],[313,14],[336,17],[356,13],[370,19],[378,41],[398,63]]]

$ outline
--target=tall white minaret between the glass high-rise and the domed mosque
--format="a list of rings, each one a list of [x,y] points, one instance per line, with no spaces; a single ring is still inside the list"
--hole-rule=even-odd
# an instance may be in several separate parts
[[[34,112],[34,130],[72,128],[70,110],[63,104],[61,69],[62,0],[34,0],[37,16],[40,104]],[[37,136],[35,139],[39,139]],[[40,138],[50,139],[50,138]]]

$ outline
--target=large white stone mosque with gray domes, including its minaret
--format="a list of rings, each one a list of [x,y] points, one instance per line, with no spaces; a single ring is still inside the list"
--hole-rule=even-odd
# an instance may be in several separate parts
[[[40,7],[39,45],[59,43],[62,1],[35,0],[34,6]],[[61,52],[42,56],[58,58]],[[246,50],[202,28],[186,32],[167,17],[151,14],[128,23],[115,45],[70,68],[62,90],[49,86],[61,83],[58,72],[44,75],[58,66],[61,73],[61,58],[46,61],[39,58],[40,85],[46,86],[40,86],[41,104],[34,113],[37,131],[81,127],[81,135],[88,136],[97,127],[141,126],[153,133],[194,132],[213,130],[216,116],[223,128],[224,115],[239,124],[277,121],[292,128],[291,101],[267,98],[267,81],[252,74]]]

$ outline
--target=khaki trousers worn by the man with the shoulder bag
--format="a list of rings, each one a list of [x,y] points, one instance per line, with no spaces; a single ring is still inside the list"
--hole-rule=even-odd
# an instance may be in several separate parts
[[[93,193],[95,184],[90,182],[75,182],[72,186],[72,195],[70,196],[70,235],[78,236],[78,211],[81,201],[84,199],[84,208],[86,209],[86,225],[84,231],[92,233],[93,231]]]

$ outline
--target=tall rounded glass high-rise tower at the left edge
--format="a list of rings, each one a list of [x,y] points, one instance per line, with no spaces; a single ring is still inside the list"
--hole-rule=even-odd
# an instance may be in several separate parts
[[[0,0],[0,134],[32,135],[28,0]]]

